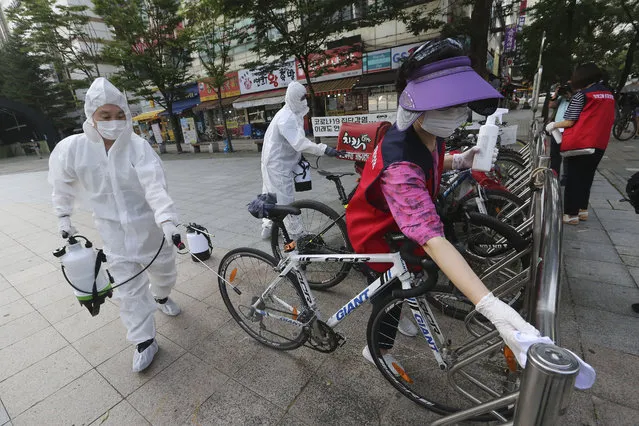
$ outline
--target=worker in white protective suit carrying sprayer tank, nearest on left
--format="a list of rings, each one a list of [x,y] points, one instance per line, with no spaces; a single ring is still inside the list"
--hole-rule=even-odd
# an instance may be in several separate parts
[[[158,351],[155,310],[170,316],[180,313],[169,298],[177,278],[172,239],[179,235],[178,217],[160,158],[133,133],[125,96],[105,78],[97,78],[87,91],[84,112],[84,133],[62,140],[49,159],[53,209],[63,237],[74,235],[76,185],[84,188],[116,284],[139,273],[158,254],[144,273],[118,287],[114,296],[127,339],[136,345],[133,371],[139,372]]]

